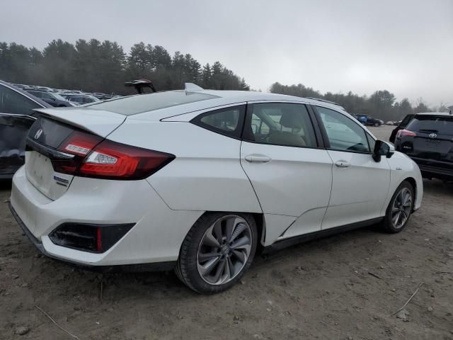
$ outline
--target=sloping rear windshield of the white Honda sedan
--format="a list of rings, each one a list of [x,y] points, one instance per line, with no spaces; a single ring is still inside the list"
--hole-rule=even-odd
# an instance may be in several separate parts
[[[195,101],[206,101],[207,99],[219,98],[210,94],[200,94],[186,91],[166,91],[155,94],[137,94],[124,98],[115,98],[111,101],[94,103],[86,107],[93,110],[105,110],[121,115],[136,115],[137,113],[169,108]]]

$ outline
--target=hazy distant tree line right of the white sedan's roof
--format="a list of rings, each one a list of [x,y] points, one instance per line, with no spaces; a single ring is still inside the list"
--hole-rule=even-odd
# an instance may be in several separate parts
[[[395,95],[387,90],[375,91],[371,96],[359,96],[358,94],[352,94],[351,91],[349,91],[348,94],[333,94],[331,92],[321,94],[321,92],[302,84],[282,85],[276,82],[270,86],[270,92],[274,94],[314,97],[333,101],[343,106],[349,113],[372,115],[385,122],[388,120],[401,120],[410,113],[447,111],[447,108],[442,103],[438,107],[429,108],[422,98],[418,98],[414,106],[408,98],[396,101]]]

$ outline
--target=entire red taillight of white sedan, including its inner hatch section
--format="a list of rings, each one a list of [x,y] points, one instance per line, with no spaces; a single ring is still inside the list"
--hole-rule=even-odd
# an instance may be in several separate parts
[[[175,159],[173,154],[132,147],[75,131],[58,147],[72,159],[52,159],[63,174],[97,179],[145,179]]]

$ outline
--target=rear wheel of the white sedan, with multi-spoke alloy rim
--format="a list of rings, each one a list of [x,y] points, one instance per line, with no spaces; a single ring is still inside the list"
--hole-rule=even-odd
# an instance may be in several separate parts
[[[252,215],[207,213],[185,237],[176,274],[197,293],[222,292],[240,280],[251,265],[257,242]]]

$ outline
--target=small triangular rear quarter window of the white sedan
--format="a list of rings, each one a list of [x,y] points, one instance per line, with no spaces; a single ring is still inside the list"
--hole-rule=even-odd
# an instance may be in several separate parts
[[[190,123],[217,132],[221,135],[239,138],[241,137],[243,120],[246,114],[246,106],[231,106],[215,111],[202,113],[193,118]]]

